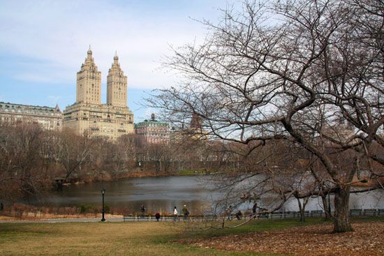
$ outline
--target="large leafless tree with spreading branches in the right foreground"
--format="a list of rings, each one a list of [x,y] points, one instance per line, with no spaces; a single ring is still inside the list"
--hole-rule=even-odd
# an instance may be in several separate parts
[[[200,116],[212,138],[251,150],[268,140],[300,145],[332,184],[334,232],[351,230],[353,177],[361,163],[384,164],[369,150],[384,146],[383,9],[374,0],[244,1],[223,10],[219,24],[202,21],[204,43],[174,49],[165,65],[186,82],[149,103],[170,121]],[[353,167],[334,157],[348,149]],[[383,175],[369,170],[371,179]]]

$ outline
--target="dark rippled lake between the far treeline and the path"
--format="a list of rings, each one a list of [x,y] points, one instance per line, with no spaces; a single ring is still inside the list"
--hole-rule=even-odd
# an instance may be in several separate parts
[[[209,188],[208,178],[209,176],[166,176],[85,183],[64,186],[62,191],[52,191],[40,202],[29,203],[101,206],[101,188],[105,188],[105,204],[125,208],[127,213],[139,212],[141,204],[145,205],[147,212],[171,212],[174,206],[180,210],[186,204],[191,213],[203,213],[211,211],[214,202],[222,196],[222,193]],[[245,202],[239,208],[249,209],[251,204],[253,203]],[[276,201],[267,197],[258,200],[258,206],[268,207],[274,204]],[[320,197],[311,198],[306,210],[320,210],[322,207]],[[384,190],[351,194],[350,209],[384,209]],[[297,211],[297,200],[290,199],[281,210]]]

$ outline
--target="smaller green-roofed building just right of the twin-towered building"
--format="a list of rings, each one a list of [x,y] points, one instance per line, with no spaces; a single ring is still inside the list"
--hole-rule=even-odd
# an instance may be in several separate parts
[[[135,133],[145,137],[149,143],[170,142],[170,127],[168,123],[156,121],[155,115],[151,115],[151,120],[135,123]]]

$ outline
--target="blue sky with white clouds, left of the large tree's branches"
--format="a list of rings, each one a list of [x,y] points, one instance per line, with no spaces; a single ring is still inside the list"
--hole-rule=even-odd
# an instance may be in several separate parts
[[[153,110],[142,98],[177,84],[161,68],[170,45],[202,41],[195,20],[218,22],[219,8],[235,0],[0,0],[0,101],[61,110],[76,100],[76,73],[89,45],[101,71],[101,102],[115,51],[128,76],[128,107],[135,122]]]

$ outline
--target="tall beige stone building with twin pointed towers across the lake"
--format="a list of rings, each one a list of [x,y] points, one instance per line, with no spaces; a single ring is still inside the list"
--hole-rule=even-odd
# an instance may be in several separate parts
[[[89,47],[87,58],[77,72],[76,102],[64,110],[64,128],[110,140],[134,133],[133,113],[127,107],[127,77],[117,54],[107,77],[107,104],[101,104],[101,72]]]

